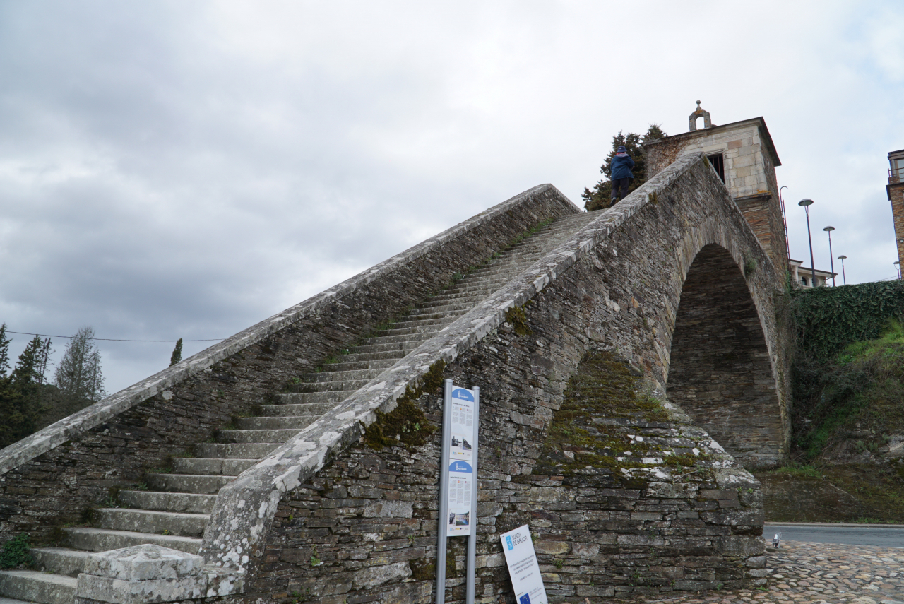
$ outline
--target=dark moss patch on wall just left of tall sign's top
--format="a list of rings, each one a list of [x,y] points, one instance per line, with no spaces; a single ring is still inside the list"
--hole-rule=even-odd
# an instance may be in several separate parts
[[[376,411],[377,420],[364,429],[364,442],[368,447],[380,450],[384,447],[402,446],[415,448],[427,442],[437,427],[430,423],[417,403],[425,392],[434,392],[443,384],[444,361],[430,365],[420,385],[411,389],[409,385],[389,413]]]

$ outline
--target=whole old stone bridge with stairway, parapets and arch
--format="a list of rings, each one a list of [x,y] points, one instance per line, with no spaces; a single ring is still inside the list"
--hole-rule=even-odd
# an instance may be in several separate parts
[[[554,602],[759,584],[745,467],[788,442],[761,241],[699,152],[603,211],[513,197],[0,451],[0,531],[39,546],[0,595],[431,601],[444,378],[482,392],[479,601],[513,601],[520,524]]]

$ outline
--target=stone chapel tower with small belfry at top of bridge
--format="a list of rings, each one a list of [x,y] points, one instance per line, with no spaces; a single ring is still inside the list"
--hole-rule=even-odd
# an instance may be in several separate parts
[[[698,124],[701,118],[702,127]],[[702,151],[728,188],[777,271],[784,272],[788,269],[787,234],[784,208],[778,197],[776,182],[776,166],[782,163],[769,136],[766,120],[752,118],[716,126],[712,123],[710,112],[701,108],[699,100],[697,109],[688,119],[688,132],[644,144],[647,179],[662,171],[678,156]],[[901,217],[902,230],[899,232],[900,237],[904,237],[904,208]]]

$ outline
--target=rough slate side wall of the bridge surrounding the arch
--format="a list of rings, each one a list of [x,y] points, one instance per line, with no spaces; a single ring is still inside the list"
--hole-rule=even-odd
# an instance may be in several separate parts
[[[714,589],[764,576],[758,482],[705,431],[690,427],[677,407],[649,402],[664,414],[656,421],[627,413],[585,422],[582,429],[617,428],[621,450],[549,446],[569,380],[594,350],[624,359],[642,376],[648,394],[637,393],[638,401],[661,399],[684,278],[706,246],[725,250],[734,270],[747,258],[767,268],[749,274],[745,284],[762,345],[774,363],[780,358],[770,261],[711,168],[702,158],[688,165],[660,189],[653,192],[656,184],[647,183],[601,211],[604,221],[617,219],[620,207],[634,212],[604,239],[579,234],[579,260],[523,306],[529,335],[503,324],[445,370],[457,384],[481,387],[478,601],[513,601],[499,533],[525,523],[538,536],[541,570],[556,602],[598,601],[632,590]],[[776,375],[773,369],[773,380]],[[438,394],[419,401],[435,425]],[[661,442],[655,447],[672,450],[635,458],[644,450],[636,436],[656,430],[659,436],[651,438]],[[411,450],[375,451],[358,442],[282,495],[266,543],[250,561],[247,592],[235,599],[429,601],[438,434]],[[629,453],[629,447],[637,450]],[[585,454],[598,463],[570,464],[570,456]],[[461,601],[464,543],[451,543],[449,553],[447,601]]]

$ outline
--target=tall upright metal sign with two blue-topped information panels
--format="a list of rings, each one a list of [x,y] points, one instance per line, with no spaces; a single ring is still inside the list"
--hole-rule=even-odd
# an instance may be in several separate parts
[[[480,389],[443,382],[443,444],[439,460],[437,604],[446,602],[448,537],[467,537],[466,603],[473,604],[477,552],[477,428]]]

